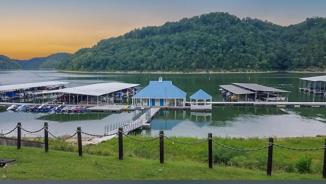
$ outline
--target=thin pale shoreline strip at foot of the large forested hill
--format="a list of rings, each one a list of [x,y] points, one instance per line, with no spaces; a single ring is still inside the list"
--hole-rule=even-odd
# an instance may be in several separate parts
[[[326,73],[326,71],[66,71],[66,70],[53,70],[58,72],[67,73],[125,73],[125,74],[223,74],[223,73]]]

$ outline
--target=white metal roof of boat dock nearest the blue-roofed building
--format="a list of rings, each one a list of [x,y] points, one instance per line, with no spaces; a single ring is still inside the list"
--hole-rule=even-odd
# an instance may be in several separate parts
[[[45,94],[45,93],[70,93],[79,95],[101,96],[107,93],[113,93],[127,88],[139,86],[140,84],[129,83],[97,83],[86,86],[77,86],[71,88],[57,89],[33,94]]]

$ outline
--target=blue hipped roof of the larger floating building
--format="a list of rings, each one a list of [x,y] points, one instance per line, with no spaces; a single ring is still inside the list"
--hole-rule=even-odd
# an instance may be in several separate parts
[[[131,98],[185,98],[186,93],[172,84],[172,81],[150,81],[149,85]]]

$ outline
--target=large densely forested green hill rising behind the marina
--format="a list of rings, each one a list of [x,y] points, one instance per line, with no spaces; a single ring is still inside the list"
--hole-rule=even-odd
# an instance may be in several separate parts
[[[63,59],[60,70],[195,71],[326,69],[326,19],[280,26],[209,13],[101,40]]]

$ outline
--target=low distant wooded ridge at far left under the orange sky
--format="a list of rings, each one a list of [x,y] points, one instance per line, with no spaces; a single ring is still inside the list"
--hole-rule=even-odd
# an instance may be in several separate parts
[[[56,53],[47,57],[36,57],[29,60],[11,59],[0,55],[0,69],[54,69],[57,64],[68,57],[69,53]]]

